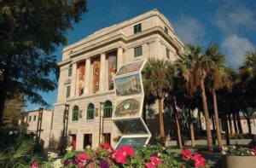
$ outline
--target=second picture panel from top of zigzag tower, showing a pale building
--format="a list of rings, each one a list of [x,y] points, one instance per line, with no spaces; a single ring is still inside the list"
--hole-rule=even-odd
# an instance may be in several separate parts
[[[117,96],[130,96],[142,93],[140,75],[135,74],[123,78],[115,79],[115,88]]]

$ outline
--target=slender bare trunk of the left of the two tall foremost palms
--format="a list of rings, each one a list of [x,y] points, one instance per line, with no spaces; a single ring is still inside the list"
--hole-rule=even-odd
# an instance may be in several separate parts
[[[203,102],[205,119],[206,119],[206,127],[207,127],[207,146],[208,146],[209,151],[213,151],[212,132],[211,132],[208,107],[207,107],[207,96],[206,96],[205,84],[204,84],[203,80],[201,80],[201,98],[202,98],[202,102]]]

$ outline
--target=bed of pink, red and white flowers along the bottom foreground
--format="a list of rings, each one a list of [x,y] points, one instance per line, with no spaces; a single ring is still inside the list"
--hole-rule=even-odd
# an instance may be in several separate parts
[[[38,163],[32,165],[37,167]],[[67,148],[64,159],[58,159],[54,153],[49,153],[48,161],[43,167],[89,167],[89,168],[118,168],[118,167],[209,167],[201,154],[191,154],[189,149],[182,150],[182,154],[168,154],[160,145],[145,145],[131,148],[123,145],[114,150],[108,144],[102,144],[96,149],[86,148],[83,154],[76,154],[72,148]]]

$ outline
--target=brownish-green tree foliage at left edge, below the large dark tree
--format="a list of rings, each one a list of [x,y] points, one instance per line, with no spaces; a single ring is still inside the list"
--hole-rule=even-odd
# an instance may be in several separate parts
[[[8,99],[4,104],[3,111],[3,127],[8,130],[17,130],[17,127],[21,125],[21,119],[26,106],[23,96],[15,96],[13,99]]]

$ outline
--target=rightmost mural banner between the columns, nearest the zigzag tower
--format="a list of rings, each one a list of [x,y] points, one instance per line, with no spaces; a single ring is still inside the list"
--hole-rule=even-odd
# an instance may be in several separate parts
[[[116,52],[108,56],[108,90],[113,90],[113,78],[116,73]]]

